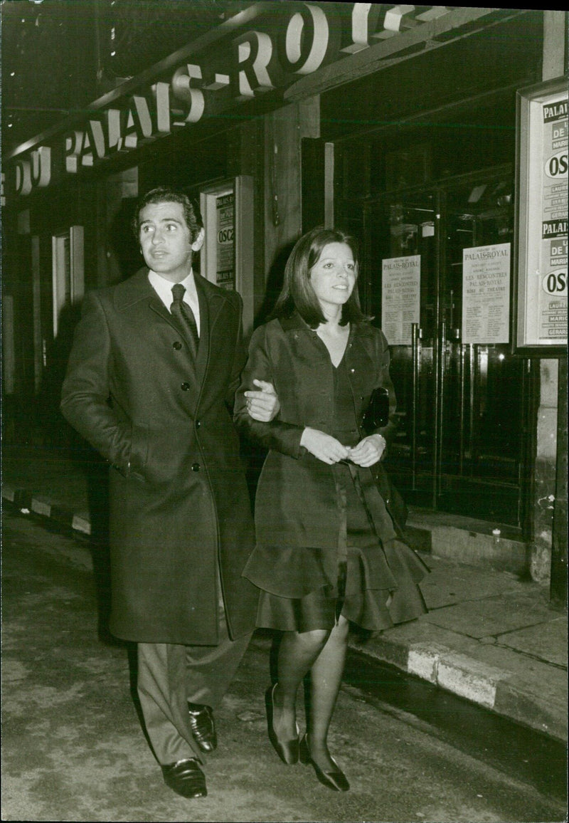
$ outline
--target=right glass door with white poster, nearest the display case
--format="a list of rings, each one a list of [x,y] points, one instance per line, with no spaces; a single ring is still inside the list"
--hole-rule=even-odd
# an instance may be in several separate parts
[[[520,523],[525,360],[510,352],[511,174],[442,192],[437,507]]]

